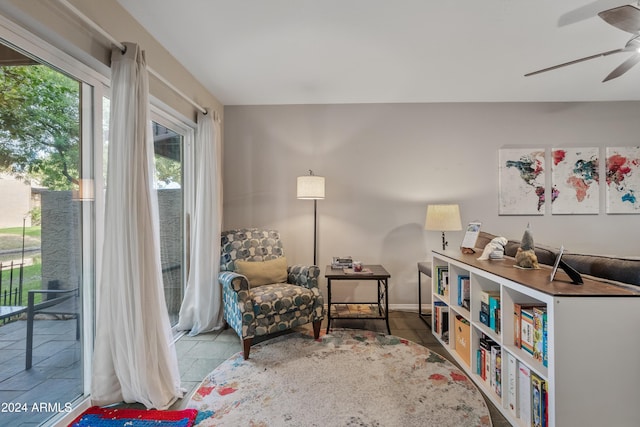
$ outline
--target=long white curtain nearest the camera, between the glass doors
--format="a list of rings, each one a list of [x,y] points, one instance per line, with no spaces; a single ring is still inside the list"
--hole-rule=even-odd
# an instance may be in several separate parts
[[[182,397],[165,305],[153,189],[144,52],[111,54],[111,120],[102,274],[91,382],[95,405],[166,409]]]

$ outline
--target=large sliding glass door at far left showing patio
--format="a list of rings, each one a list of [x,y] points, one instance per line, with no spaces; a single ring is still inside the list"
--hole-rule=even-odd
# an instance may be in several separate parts
[[[0,400],[23,405],[1,425],[41,423],[85,393],[92,103],[92,86],[0,44]]]

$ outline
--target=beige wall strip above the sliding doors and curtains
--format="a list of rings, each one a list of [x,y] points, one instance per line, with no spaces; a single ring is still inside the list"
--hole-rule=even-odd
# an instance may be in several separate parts
[[[5,16],[108,75],[110,42],[96,34],[59,2],[7,0],[3,3],[0,11]],[[138,43],[146,51],[149,67],[197,104],[223,114],[222,105],[214,95],[207,92],[116,0],[71,0],[70,3],[116,40]],[[195,121],[196,109],[153,76],[150,77],[149,90],[151,95]]]

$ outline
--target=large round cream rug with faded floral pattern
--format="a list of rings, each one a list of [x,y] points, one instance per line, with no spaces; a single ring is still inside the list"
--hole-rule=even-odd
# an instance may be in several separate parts
[[[207,426],[491,426],[484,399],[452,363],[392,335],[292,333],[238,353],[187,403]]]

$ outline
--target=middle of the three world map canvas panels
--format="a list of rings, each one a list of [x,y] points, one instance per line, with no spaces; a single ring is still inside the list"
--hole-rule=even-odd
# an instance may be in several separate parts
[[[597,214],[600,208],[599,148],[551,150],[553,214]]]

